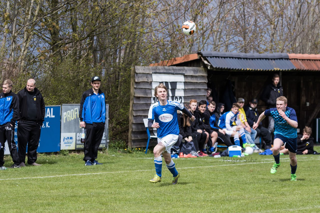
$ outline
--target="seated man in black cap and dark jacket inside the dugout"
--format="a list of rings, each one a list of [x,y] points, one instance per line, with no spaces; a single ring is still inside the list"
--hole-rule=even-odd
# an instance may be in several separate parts
[[[252,99],[251,102],[247,106],[244,107],[245,115],[247,117],[247,122],[249,126],[252,128],[253,124],[255,124],[259,118],[259,113],[257,110],[257,99]],[[266,143],[264,145],[264,149],[271,148],[271,135],[267,128],[262,126],[262,123],[259,124],[258,128],[256,128],[257,135],[263,138],[263,141]]]

